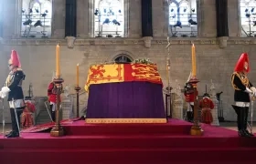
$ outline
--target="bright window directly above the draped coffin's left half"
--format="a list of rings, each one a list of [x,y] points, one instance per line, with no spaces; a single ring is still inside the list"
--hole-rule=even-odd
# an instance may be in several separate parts
[[[123,0],[95,0],[95,37],[122,37],[123,24]]]

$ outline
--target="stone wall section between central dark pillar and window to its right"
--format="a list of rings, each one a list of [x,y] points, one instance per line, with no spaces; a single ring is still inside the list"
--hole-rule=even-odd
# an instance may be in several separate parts
[[[168,2],[152,0],[152,26],[154,37],[165,37],[168,34]]]

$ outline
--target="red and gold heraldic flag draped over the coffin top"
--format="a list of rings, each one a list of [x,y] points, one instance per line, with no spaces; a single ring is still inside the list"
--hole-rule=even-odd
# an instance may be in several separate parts
[[[89,87],[91,84],[116,83],[127,81],[148,81],[151,83],[163,85],[156,65],[93,65],[89,68],[87,83],[85,84],[85,90],[89,91]]]

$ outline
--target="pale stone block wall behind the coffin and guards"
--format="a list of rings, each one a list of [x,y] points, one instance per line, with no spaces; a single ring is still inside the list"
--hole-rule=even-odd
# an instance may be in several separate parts
[[[9,0],[10,3],[5,6],[5,10],[13,8],[15,1]],[[237,0],[236,0],[237,1]],[[233,89],[230,85],[230,75],[233,72],[235,63],[242,52],[248,52],[251,59],[251,82],[256,84],[254,74],[256,73],[256,40],[254,38],[236,37],[240,34],[240,27],[236,17],[229,17],[229,37],[228,45],[225,48],[219,47],[219,39],[216,38],[215,23],[215,5],[214,1],[197,0],[198,17],[198,33],[197,38],[171,38],[170,56],[167,56],[167,45],[165,33],[165,14],[163,12],[164,3],[159,0],[153,0],[153,16],[154,16],[154,38],[151,47],[144,46],[144,40],[141,36],[140,16],[138,14],[138,5],[140,1],[125,1],[129,3],[129,38],[88,38],[91,20],[89,13],[91,0],[84,3],[79,2],[87,8],[78,7],[78,34],[80,35],[73,48],[67,46],[67,41],[63,38],[65,7],[55,0],[55,15],[53,19],[58,19],[53,23],[54,29],[52,39],[19,39],[16,37],[16,26],[9,26],[7,22],[15,21],[14,15],[6,15],[4,13],[4,38],[0,44],[0,82],[4,84],[5,77],[8,74],[7,60],[12,49],[16,49],[22,62],[22,67],[26,72],[27,78],[24,83],[25,94],[27,95],[28,85],[32,83],[34,86],[34,95],[37,97],[46,96],[48,82],[51,79],[52,71],[55,69],[55,46],[60,43],[61,56],[61,74],[65,80],[64,85],[74,87],[76,76],[76,65],[80,63],[80,85],[83,87],[88,67],[91,64],[110,61],[119,54],[127,54],[133,59],[137,57],[148,57],[158,65],[159,72],[166,86],[165,63],[166,57],[171,59],[171,84],[175,84],[178,80],[181,84],[187,81],[187,77],[191,70],[191,44],[196,45],[197,52],[197,77],[199,94],[205,92],[205,85],[210,86],[211,79],[215,84],[216,91],[223,91],[221,98],[223,100],[224,117],[228,120],[235,120],[236,116],[231,109],[230,104],[233,103]],[[161,3],[160,3],[161,2]],[[235,2],[235,0],[234,0]],[[231,3],[231,2],[229,2]],[[60,5],[61,4],[61,5]],[[156,7],[159,5],[159,7]],[[136,6],[136,7],[134,7]],[[237,5],[230,4],[230,12],[235,13],[238,10]],[[82,10],[82,11],[81,11]],[[137,14],[136,14],[137,13]],[[135,15],[136,14],[136,15]],[[160,23],[160,22],[161,23]],[[81,22],[84,22],[81,24]],[[90,35],[89,35],[90,36]],[[73,91],[74,93],[74,91]],[[83,97],[84,98],[84,97]],[[7,114],[7,113],[6,113]],[[2,118],[2,117],[1,117]],[[1,119],[0,118],[0,119]],[[6,118],[9,120],[9,118]]]

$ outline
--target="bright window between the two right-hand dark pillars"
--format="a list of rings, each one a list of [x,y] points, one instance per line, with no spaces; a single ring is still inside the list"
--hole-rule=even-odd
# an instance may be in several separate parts
[[[197,36],[197,0],[169,0],[172,36]]]

